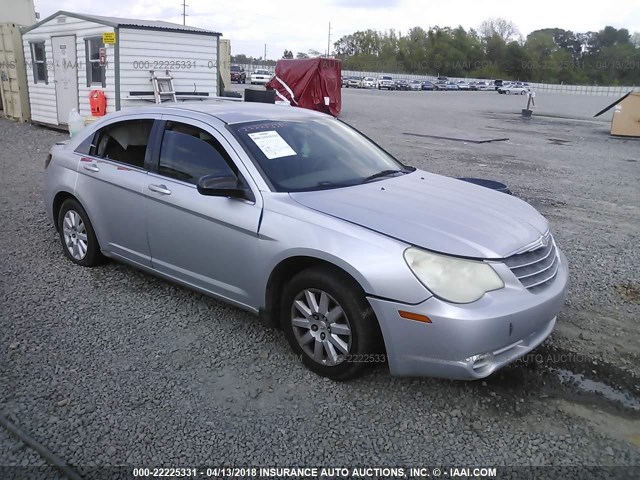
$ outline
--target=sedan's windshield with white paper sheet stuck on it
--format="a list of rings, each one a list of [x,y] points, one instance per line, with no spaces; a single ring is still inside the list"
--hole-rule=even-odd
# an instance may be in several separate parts
[[[345,187],[411,171],[335,119],[259,121],[228,128],[278,192]]]

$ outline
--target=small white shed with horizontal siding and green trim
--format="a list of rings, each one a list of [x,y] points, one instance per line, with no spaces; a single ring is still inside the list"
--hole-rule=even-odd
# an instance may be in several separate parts
[[[220,33],[174,23],[59,11],[22,29],[33,122],[66,126],[91,116],[102,90],[107,113],[154,101],[151,70],[169,70],[178,100],[217,96]]]

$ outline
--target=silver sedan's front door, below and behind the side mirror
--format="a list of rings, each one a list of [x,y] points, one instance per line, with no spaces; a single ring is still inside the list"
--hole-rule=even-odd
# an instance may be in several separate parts
[[[251,306],[262,197],[215,128],[180,116],[162,118],[159,154],[144,188],[153,268]],[[252,187],[254,200],[198,193],[200,177],[229,169]]]

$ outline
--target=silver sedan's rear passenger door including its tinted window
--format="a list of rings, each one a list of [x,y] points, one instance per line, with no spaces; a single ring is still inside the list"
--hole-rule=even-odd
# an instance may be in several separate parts
[[[151,266],[151,255],[142,193],[153,126],[152,116],[133,115],[99,129],[80,159],[76,183],[100,247],[146,267]]]

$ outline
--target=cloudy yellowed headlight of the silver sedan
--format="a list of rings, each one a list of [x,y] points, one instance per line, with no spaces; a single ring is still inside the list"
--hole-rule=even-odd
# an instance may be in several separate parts
[[[485,293],[504,287],[504,282],[487,263],[438,255],[410,247],[404,259],[425,287],[438,297],[455,303],[471,303]]]

